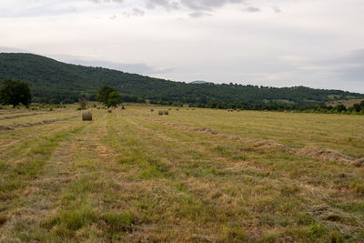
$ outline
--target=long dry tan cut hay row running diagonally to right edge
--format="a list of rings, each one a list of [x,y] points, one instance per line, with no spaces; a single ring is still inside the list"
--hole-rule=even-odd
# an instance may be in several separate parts
[[[141,117],[136,117],[136,118],[140,119]],[[350,166],[354,166],[354,167],[364,167],[364,157],[357,159],[354,157],[349,157],[349,156],[343,155],[343,154],[339,153],[338,151],[334,151],[334,150],[327,149],[327,148],[318,148],[318,147],[311,147],[311,146],[302,147],[302,148],[293,148],[293,147],[288,147],[284,144],[278,143],[277,141],[274,141],[274,140],[266,140],[266,139],[253,138],[253,137],[239,137],[239,136],[221,134],[221,133],[218,133],[217,131],[211,129],[210,127],[186,127],[186,126],[179,126],[177,124],[166,122],[166,121],[161,121],[161,120],[154,120],[154,119],[147,119],[147,118],[144,118],[144,119],[156,122],[158,124],[166,125],[168,127],[185,130],[185,131],[203,132],[203,133],[211,134],[214,136],[218,136],[220,138],[226,138],[226,139],[231,139],[231,140],[240,140],[240,141],[243,141],[250,145],[252,144],[252,148],[257,149],[257,150],[280,149],[280,150],[284,150],[285,152],[288,152],[288,153],[294,153],[294,154],[298,154],[301,156],[312,157],[314,159],[319,159],[319,160],[323,160],[323,161],[337,161],[337,162],[347,164]]]

